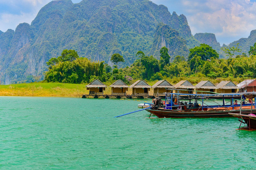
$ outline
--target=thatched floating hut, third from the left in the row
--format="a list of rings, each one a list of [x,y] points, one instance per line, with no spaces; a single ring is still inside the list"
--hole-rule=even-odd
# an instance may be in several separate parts
[[[132,95],[135,96],[148,96],[151,86],[148,85],[144,80],[138,80],[133,83],[130,88],[132,88]]]

